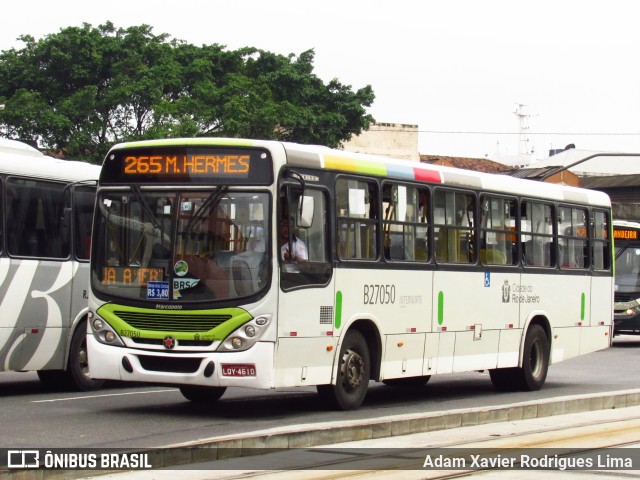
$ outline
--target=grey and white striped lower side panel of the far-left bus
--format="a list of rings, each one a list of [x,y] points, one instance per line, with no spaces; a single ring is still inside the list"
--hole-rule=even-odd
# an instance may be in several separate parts
[[[72,270],[70,262],[10,261],[0,287],[3,370],[64,367]]]

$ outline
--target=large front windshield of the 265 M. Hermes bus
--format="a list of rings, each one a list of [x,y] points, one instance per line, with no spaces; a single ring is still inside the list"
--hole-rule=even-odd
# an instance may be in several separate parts
[[[269,195],[208,190],[102,191],[92,286],[153,303],[228,301],[262,290]]]

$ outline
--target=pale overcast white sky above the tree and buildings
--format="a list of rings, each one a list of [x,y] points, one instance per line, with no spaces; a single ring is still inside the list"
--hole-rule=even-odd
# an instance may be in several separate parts
[[[195,45],[315,50],[314,73],[371,85],[376,121],[417,125],[423,154],[519,153],[568,143],[640,152],[635,0],[57,0],[3,5],[0,50],[83,22],[148,24]]]

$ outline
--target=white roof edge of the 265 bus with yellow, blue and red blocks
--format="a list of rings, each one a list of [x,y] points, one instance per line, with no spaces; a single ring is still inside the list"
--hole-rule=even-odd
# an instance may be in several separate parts
[[[419,163],[410,160],[365,155],[319,145],[303,145],[275,140],[242,138],[175,138],[145,140],[115,145],[113,149],[162,146],[236,146],[265,147],[284,151],[288,165],[361,173],[442,185],[495,191],[512,195],[548,198],[550,200],[587,203],[609,207],[607,194],[596,190],[514,178],[507,175],[463,170]]]

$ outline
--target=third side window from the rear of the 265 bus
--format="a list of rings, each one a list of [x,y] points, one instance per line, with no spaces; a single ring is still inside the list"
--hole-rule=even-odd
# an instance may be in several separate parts
[[[525,201],[521,204],[523,263],[530,267],[555,266],[553,242],[553,208],[549,204]]]

